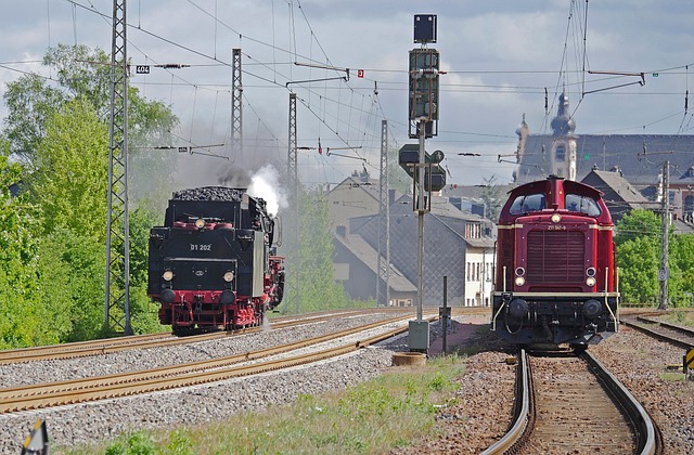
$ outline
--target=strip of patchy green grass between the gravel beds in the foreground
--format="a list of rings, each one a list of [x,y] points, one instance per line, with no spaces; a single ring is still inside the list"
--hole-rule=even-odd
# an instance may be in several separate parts
[[[459,388],[455,379],[464,373],[463,360],[458,355],[435,358],[421,367],[394,367],[342,392],[300,395],[291,405],[241,413],[201,427],[141,430],[60,453],[385,453],[437,431],[437,406],[455,402],[452,396]]]

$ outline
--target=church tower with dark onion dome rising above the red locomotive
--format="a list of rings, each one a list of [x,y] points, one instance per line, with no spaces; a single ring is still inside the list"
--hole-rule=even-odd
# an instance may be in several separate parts
[[[569,115],[566,90],[560,95],[560,108],[552,119],[552,147],[547,159],[550,174],[576,180],[576,122]]]

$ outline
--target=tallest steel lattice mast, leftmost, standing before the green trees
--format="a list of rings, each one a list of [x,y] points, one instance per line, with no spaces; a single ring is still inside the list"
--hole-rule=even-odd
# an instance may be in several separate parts
[[[128,55],[126,0],[113,1],[111,125],[108,128],[108,208],[106,213],[106,294],[104,325],[130,327],[130,240],[128,227]],[[117,311],[114,311],[117,310]]]

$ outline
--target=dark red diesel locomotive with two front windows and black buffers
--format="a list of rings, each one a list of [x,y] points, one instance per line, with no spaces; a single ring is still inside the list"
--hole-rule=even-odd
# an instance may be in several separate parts
[[[596,344],[618,329],[612,217],[594,187],[551,176],[512,190],[498,223],[491,329],[516,344]]]

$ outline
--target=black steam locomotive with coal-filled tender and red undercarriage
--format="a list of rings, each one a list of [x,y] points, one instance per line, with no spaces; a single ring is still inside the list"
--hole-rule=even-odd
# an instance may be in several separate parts
[[[262,323],[282,301],[284,259],[274,220],[246,190],[174,193],[163,226],[150,231],[147,294],[175,334]]]

